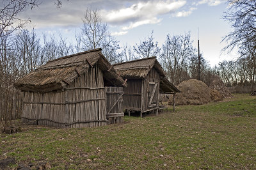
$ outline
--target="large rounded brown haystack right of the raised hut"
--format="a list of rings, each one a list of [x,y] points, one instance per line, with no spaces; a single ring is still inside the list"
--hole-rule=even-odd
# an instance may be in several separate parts
[[[201,105],[211,102],[211,90],[208,86],[195,79],[180,82],[177,86],[181,93],[175,95],[175,105]],[[171,99],[168,104],[172,105]]]

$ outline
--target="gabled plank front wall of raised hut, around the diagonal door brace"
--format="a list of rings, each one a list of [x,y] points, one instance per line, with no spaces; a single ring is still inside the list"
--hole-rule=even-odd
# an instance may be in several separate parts
[[[151,97],[150,91],[154,88],[154,86],[149,86],[149,82],[157,82],[157,88],[156,92],[154,94],[153,103],[155,102],[157,105],[155,107],[148,107],[148,103]],[[143,80],[143,105],[142,105],[142,112],[148,111],[150,109],[155,109],[158,107],[158,95],[159,95],[159,84],[160,84],[160,75],[157,73],[157,71],[152,68],[150,72],[148,73],[147,77]]]

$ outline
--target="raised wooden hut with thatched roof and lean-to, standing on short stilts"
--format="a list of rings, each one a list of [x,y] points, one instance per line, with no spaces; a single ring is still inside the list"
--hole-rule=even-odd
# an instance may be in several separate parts
[[[124,88],[123,108],[143,112],[159,109],[159,93],[179,93],[168,81],[156,57],[127,61],[114,65],[128,86]]]

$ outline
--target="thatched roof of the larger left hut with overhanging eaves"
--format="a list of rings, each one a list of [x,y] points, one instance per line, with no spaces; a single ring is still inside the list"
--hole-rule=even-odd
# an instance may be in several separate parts
[[[101,50],[88,50],[48,61],[15,82],[15,88],[22,91],[40,92],[63,89],[96,63],[104,74],[106,84],[123,86],[124,79],[118,76],[115,69],[111,68],[111,64],[102,55]]]

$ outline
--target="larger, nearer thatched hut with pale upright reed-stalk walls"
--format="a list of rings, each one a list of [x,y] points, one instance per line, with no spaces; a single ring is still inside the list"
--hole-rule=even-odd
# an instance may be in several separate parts
[[[24,92],[22,121],[54,127],[106,125],[105,87],[124,85],[101,49],[53,59],[15,82]]]

